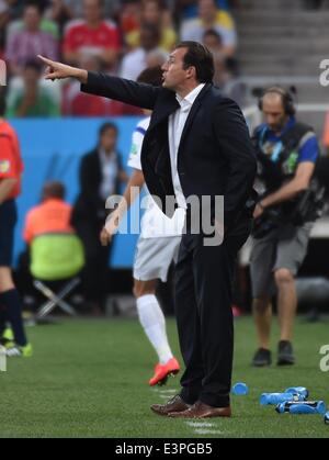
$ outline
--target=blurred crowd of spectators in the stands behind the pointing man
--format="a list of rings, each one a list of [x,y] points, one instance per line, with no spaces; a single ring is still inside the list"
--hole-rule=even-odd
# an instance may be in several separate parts
[[[42,78],[38,54],[135,80],[162,65],[174,44],[203,42],[215,82],[231,92],[237,32],[229,0],[0,0],[0,58],[8,66],[8,116],[112,116],[140,111]],[[229,96],[239,99],[239,94]]]

